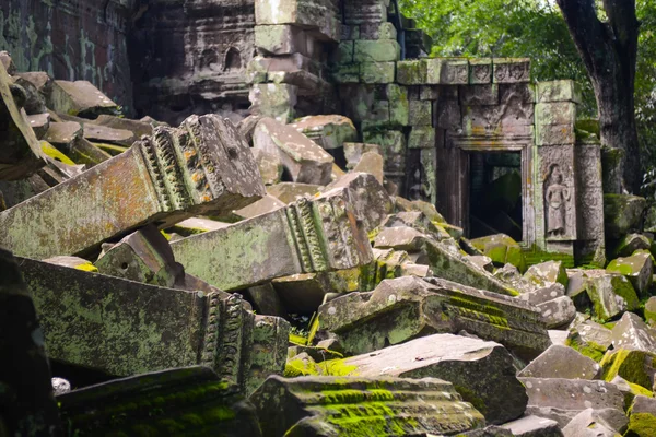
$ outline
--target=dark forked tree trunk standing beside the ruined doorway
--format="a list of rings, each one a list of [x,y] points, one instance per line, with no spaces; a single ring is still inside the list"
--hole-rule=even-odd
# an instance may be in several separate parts
[[[613,191],[640,190],[642,180],[635,125],[634,80],[640,23],[635,0],[604,0],[608,23],[597,17],[595,0],[557,0],[593,82],[599,108],[601,144],[624,156]]]

